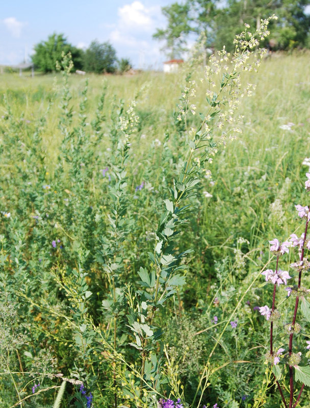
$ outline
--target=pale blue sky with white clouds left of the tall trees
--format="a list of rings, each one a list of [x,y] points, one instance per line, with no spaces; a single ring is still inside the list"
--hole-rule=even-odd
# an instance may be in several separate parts
[[[136,68],[160,68],[162,44],[152,39],[165,27],[161,7],[173,0],[0,0],[0,64],[28,60],[34,44],[63,33],[68,41],[87,47],[97,39],[110,41],[118,58],[130,58]]]

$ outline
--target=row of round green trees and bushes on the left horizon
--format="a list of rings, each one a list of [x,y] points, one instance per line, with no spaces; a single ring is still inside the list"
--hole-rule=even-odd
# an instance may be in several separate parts
[[[123,73],[131,68],[130,60],[116,56],[116,50],[109,42],[91,42],[87,49],[70,44],[63,34],[52,34],[46,41],[34,47],[32,62],[37,70],[47,73],[56,70],[56,61],[61,61],[62,53],[71,53],[74,69],[95,73]]]

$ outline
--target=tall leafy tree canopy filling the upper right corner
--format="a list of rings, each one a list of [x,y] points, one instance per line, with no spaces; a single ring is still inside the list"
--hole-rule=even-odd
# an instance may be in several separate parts
[[[158,29],[154,38],[166,42],[170,57],[178,57],[186,47],[189,35],[203,32],[205,47],[223,45],[231,51],[236,34],[244,23],[256,29],[261,18],[272,14],[278,20],[270,23],[270,42],[275,49],[289,50],[310,46],[310,16],[304,13],[309,0],[186,0],[162,8],[167,17],[166,29]],[[267,44],[265,44],[267,45]]]

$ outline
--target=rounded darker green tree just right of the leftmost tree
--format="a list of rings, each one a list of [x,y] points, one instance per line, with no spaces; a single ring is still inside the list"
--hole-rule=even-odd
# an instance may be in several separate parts
[[[109,72],[116,70],[116,51],[109,42],[92,41],[84,54],[84,69],[88,72]]]

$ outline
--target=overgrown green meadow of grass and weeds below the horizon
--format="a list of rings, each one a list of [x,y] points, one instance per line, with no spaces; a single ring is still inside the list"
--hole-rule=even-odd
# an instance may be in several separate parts
[[[285,406],[257,309],[272,303],[268,241],[304,231],[308,61],[272,55],[241,72],[256,85],[234,113],[242,134],[208,139],[205,161],[186,159],[209,109],[200,65],[186,121],[186,70],[89,75],[87,90],[76,74],[1,75],[1,406]],[[292,249],[279,260],[291,282],[297,259]],[[274,347],[287,352],[294,302],[283,286]],[[297,321],[307,366],[310,323]],[[298,406],[309,400],[305,387]]]

